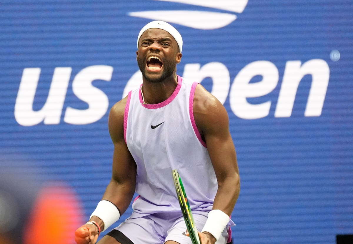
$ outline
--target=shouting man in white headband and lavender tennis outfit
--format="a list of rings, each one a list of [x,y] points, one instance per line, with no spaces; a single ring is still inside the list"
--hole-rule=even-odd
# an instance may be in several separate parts
[[[240,189],[227,111],[201,85],[176,75],[183,40],[173,26],[150,22],[137,47],[143,83],[110,111],[112,180],[90,221],[76,231],[76,242],[95,243],[136,191],[132,215],[100,244],[191,244],[174,189],[176,168],[201,243],[225,244]]]

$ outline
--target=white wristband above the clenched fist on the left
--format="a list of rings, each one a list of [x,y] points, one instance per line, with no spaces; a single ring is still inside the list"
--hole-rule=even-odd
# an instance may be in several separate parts
[[[109,226],[118,221],[118,219],[120,218],[120,212],[119,209],[113,203],[107,200],[102,200],[98,202],[96,210],[93,211],[92,215],[90,216],[90,219],[92,218],[92,216],[97,216],[103,221],[103,232],[107,230]]]

